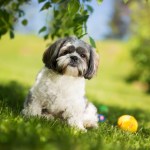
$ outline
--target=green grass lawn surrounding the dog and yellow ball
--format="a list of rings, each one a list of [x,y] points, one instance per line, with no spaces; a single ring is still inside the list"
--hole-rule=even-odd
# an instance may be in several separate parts
[[[150,95],[139,83],[125,82],[132,68],[127,43],[97,43],[100,67],[97,76],[87,81],[86,95],[97,107],[109,108],[106,121],[99,123],[97,130],[81,133],[61,120],[20,115],[25,96],[43,65],[41,58],[47,43],[21,35],[14,40],[0,40],[0,149],[150,149]],[[124,114],[138,120],[137,133],[117,127],[118,117]]]

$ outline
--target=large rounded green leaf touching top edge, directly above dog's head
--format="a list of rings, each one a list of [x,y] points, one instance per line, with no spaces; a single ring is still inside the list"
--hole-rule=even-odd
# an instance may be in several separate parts
[[[80,2],[78,0],[70,0],[68,3],[68,12],[70,14],[76,14],[80,8]]]

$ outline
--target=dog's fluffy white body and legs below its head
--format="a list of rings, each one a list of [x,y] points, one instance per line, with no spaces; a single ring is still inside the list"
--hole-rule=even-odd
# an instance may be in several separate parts
[[[30,89],[22,112],[50,119],[57,116],[82,130],[96,127],[96,108],[87,102],[84,87],[84,78],[59,75],[44,67]]]

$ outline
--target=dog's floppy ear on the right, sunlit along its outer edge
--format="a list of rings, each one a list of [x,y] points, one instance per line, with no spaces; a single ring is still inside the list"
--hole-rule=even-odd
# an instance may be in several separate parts
[[[97,72],[99,65],[99,55],[94,48],[90,49],[90,59],[87,72],[84,75],[85,79],[91,79]]]

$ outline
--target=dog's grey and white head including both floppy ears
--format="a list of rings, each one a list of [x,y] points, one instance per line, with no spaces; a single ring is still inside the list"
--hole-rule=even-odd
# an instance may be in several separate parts
[[[43,62],[60,74],[90,79],[97,71],[98,58],[89,44],[76,37],[67,37],[56,41],[44,52]]]

